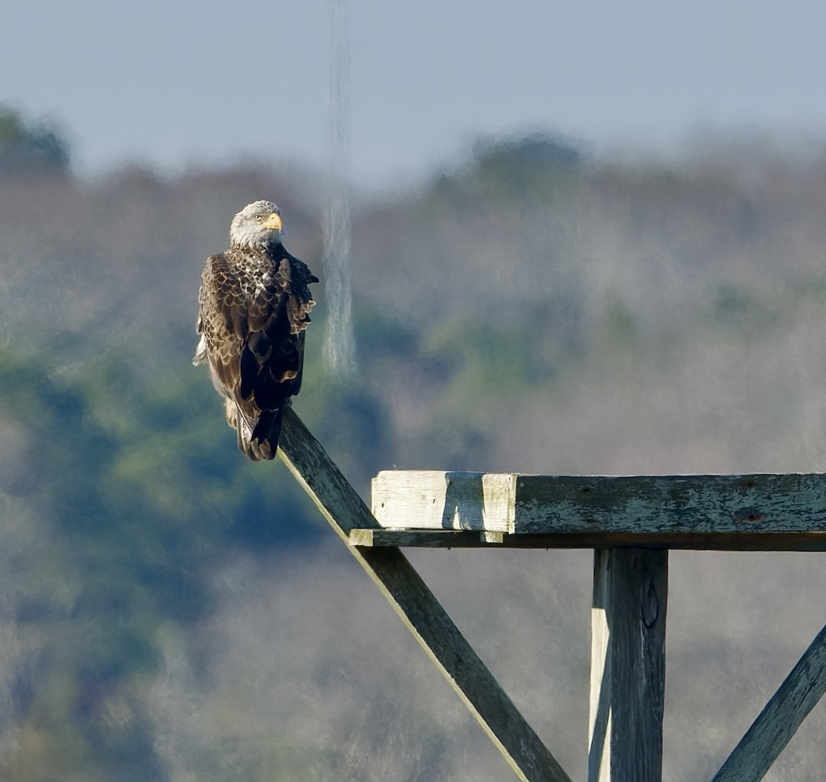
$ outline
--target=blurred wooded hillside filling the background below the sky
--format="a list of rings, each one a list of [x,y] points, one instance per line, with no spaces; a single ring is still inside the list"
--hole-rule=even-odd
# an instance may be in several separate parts
[[[461,709],[434,720],[415,644],[387,634],[372,585],[331,564],[323,520],[282,465],[236,452],[190,363],[204,259],[254,199],[278,201],[287,246],[322,277],[296,409],[365,494],[394,466],[826,467],[823,151],[720,141],[677,164],[598,159],[555,135],[483,141],[425,186],[358,206],[346,385],[320,356],[316,174],[128,167],[86,181],[60,160],[59,176],[0,178],[0,777],[501,776]],[[419,558],[577,775],[590,571],[581,554],[519,556]],[[732,628],[720,609],[670,651],[691,694],[667,715],[672,775],[694,780],[761,700],[748,672],[782,668],[789,638],[818,629],[819,604],[789,611],[780,587],[816,596],[823,569],[802,555],[757,569],[749,555],[676,559],[691,589],[705,585],[704,609],[736,583],[731,600],[783,618]],[[558,580],[575,571],[584,581]],[[566,632],[544,635],[536,614]],[[727,633],[760,660],[732,666]],[[517,634],[566,682],[559,697],[507,664],[502,639]],[[723,672],[706,675],[710,661]],[[723,685],[736,691],[723,699]],[[704,698],[723,727],[689,737]]]

